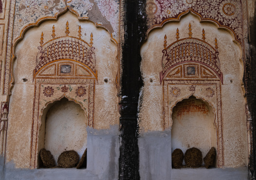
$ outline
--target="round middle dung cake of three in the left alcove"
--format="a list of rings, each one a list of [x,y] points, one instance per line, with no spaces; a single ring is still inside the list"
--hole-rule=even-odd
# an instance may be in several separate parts
[[[64,168],[75,167],[79,161],[79,155],[74,150],[67,150],[58,156],[58,165]]]

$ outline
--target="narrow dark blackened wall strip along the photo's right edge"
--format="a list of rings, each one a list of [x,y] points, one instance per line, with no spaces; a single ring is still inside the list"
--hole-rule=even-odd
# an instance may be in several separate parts
[[[250,173],[250,179],[255,178],[256,170],[256,148],[255,139],[255,57],[256,57],[256,36],[255,36],[255,7],[256,2],[247,0],[243,1],[243,14],[244,16],[244,87],[246,91],[246,115],[247,115],[247,127],[248,127],[248,147],[249,147],[249,164],[248,169]]]

